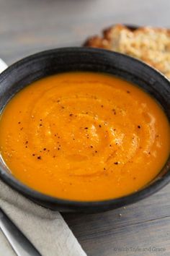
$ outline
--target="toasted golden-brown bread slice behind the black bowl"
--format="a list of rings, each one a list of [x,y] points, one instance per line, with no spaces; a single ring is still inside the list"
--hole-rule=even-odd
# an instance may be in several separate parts
[[[156,27],[130,28],[114,25],[84,46],[106,48],[146,61],[170,79],[170,30]]]

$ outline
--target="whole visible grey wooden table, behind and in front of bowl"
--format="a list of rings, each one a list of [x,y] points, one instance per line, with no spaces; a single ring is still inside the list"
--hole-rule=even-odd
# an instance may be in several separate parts
[[[170,27],[169,15],[169,0],[0,0],[0,57],[12,64],[48,48],[80,46],[117,22]],[[126,208],[63,217],[88,255],[168,256],[169,189]]]

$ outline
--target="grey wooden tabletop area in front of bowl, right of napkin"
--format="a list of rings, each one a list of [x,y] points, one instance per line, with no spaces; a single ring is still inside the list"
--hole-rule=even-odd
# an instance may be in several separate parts
[[[72,229],[88,255],[147,255],[146,252],[130,252],[130,247],[164,248],[170,255],[170,185],[145,200],[125,208],[97,214],[64,213]],[[119,248],[129,251],[118,251]]]

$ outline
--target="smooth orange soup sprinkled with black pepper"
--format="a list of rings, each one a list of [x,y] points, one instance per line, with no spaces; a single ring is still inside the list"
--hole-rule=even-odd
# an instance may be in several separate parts
[[[69,200],[137,191],[169,156],[169,121],[135,85],[92,72],[33,82],[0,119],[1,157],[27,186]]]

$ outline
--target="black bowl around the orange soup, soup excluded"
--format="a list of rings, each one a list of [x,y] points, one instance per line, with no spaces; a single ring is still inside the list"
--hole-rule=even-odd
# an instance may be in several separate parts
[[[161,73],[137,59],[94,48],[59,48],[29,56],[0,75],[0,110],[24,86],[42,77],[67,71],[105,72],[122,77],[146,90],[161,104],[170,119],[170,82]],[[95,213],[119,208],[148,197],[170,180],[170,158],[158,176],[140,191],[125,197],[95,202],[62,200],[43,195],[19,182],[0,161],[0,177],[30,200],[53,210]]]

